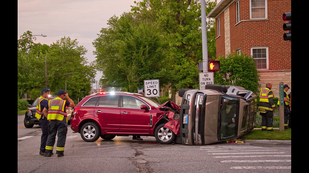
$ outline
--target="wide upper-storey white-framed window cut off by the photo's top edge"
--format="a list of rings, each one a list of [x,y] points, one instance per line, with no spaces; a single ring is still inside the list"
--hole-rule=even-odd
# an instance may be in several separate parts
[[[267,18],[267,0],[250,0],[250,18]]]

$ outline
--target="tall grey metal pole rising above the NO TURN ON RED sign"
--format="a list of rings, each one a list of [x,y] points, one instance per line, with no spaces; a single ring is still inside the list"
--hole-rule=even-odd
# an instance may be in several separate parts
[[[208,72],[206,3],[201,0],[203,72]]]

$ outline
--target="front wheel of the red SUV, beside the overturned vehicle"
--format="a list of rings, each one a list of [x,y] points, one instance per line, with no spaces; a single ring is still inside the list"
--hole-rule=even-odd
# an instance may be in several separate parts
[[[164,124],[160,124],[155,129],[155,139],[158,143],[161,144],[171,144],[175,139],[175,133],[171,131],[169,128],[163,127]]]

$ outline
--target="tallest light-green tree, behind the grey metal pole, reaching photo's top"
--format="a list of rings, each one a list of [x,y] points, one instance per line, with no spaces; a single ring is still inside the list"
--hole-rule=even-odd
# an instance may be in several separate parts
[[[206,14],[216,4],[216,1],[214,3],[207,1]],[[176,90],[198,87],[197,63],[202,58],[200,2],[142,0],[137,2],[131,11],[138,20],[155,23],[167,33],[164,39],[168,40],[172,47],[170,57],[174,60],[171,71],[172,101],[175,101]],[[210,40],[212,43],[215,42],[213,37],[210,37]],[[212,50],[210,55],[215,55],[215,50],[210,50]]]

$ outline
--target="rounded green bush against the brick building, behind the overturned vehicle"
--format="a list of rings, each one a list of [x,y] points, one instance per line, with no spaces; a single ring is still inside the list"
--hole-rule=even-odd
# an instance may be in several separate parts
[[[234,54],[228,53],[217,60],[220,61],[220,70],[214,73],[215,84],[242,86],[255,94],[259,93],[260,74],[252,56],[239,55],[234,51]]]

